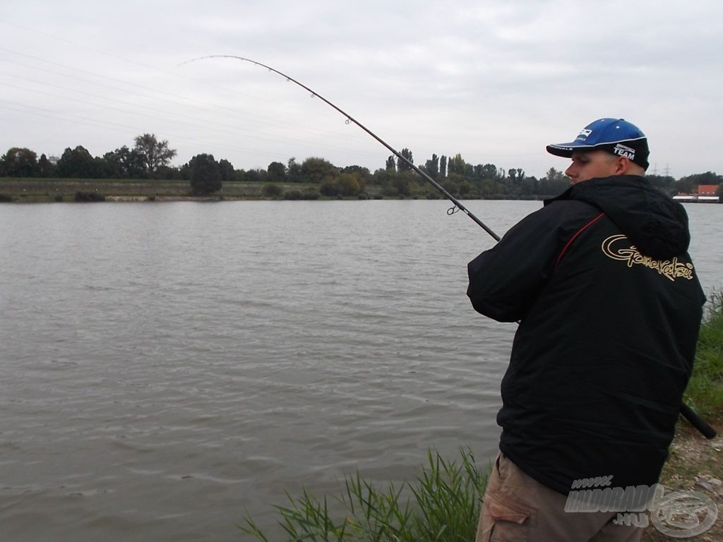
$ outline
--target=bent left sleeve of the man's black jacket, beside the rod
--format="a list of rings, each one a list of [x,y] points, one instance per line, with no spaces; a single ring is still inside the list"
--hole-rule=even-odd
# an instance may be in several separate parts
[[[498,322],[527,314],[562,250],[560,215],[551,205],[523,218],[492,249],[469,262],[469,296],[479,313]]]

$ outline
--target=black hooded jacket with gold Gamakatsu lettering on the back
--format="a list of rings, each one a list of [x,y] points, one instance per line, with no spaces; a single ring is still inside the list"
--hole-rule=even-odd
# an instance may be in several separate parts
[[[521,322],[500,450],[544,485],[658,481],[705,296],[688,216],[638,176],[572,186],[469,263],[474,308]]]

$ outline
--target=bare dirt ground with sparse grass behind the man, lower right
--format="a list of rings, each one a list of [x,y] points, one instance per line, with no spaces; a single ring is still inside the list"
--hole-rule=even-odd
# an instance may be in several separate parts
[[[681,422],[663,468],[660,483],[665,495],[675,491],[691,490],[709,496],[718,508],[718,519],[703,533],[684,537],[684,530],[677,536],[662,533],[651,524],[643,533],[644,542],[685,541],[723,542],[723,417],[706,418],[716,429],[718,436],[708,440],[688,423]],[[709,511],[698,512],[703,521]]]

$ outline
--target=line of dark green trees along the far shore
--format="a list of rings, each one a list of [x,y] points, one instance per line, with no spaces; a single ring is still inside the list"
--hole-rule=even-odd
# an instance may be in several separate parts
[[[228,160],[213,155],[195,155],[179,167],[169,165],[176,156],[166,140],[155,134],[141,134],[134,145],[124,145],[102,157],[94,157],[78,145],[68,147],[59,158],[48,158],[33,150],[12,147],[0,157],[0,176],[20,178],[94,178],[94,179],[158,179],[189,181],[193,194],[212,194],[224,182],[262,183],[263,194],[281,197],[283,186],[299,184],[298,192],[326,197],[363,197],[367,186],[377,185],[375,192],[388,197],[437,198],[440,194],[409,165],[414,164],[411,150],[387,158],[383,168],[373,173],[369,168],[349,165],[339,168],[324,158],[306,158],[300,163],[289,158],[286,163],[271,162],[266,169],[244,171]],[[522,168],[508,170],[496,165],[467,163],[461,155],[451,157],[432,154],[418,165],[455,197],[467,199],[539,199],[551,197],[568,188],[570,181],[562,171],[550,168],[542,178],[527,176]],[[669,195],[690,193],[699,184],[719,186],[723,193],[723,176],[708,171],[675,179],[672,176],[648,175],[651,183]],[[305,186],[304,186],[305,185]],[[301,187],[304,190],[301,190]],[[316,192],[318,190],[318,192]]]

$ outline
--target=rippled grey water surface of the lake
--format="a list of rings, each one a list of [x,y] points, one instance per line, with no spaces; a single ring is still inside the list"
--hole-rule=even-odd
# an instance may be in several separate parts
[[[470,202],[497,233],[536,202]],[[0,206],[0,540],[225,541],[427,449],[484,463],[513,324],[441,201]],[[723,205],[688,205],[720,288]]]

